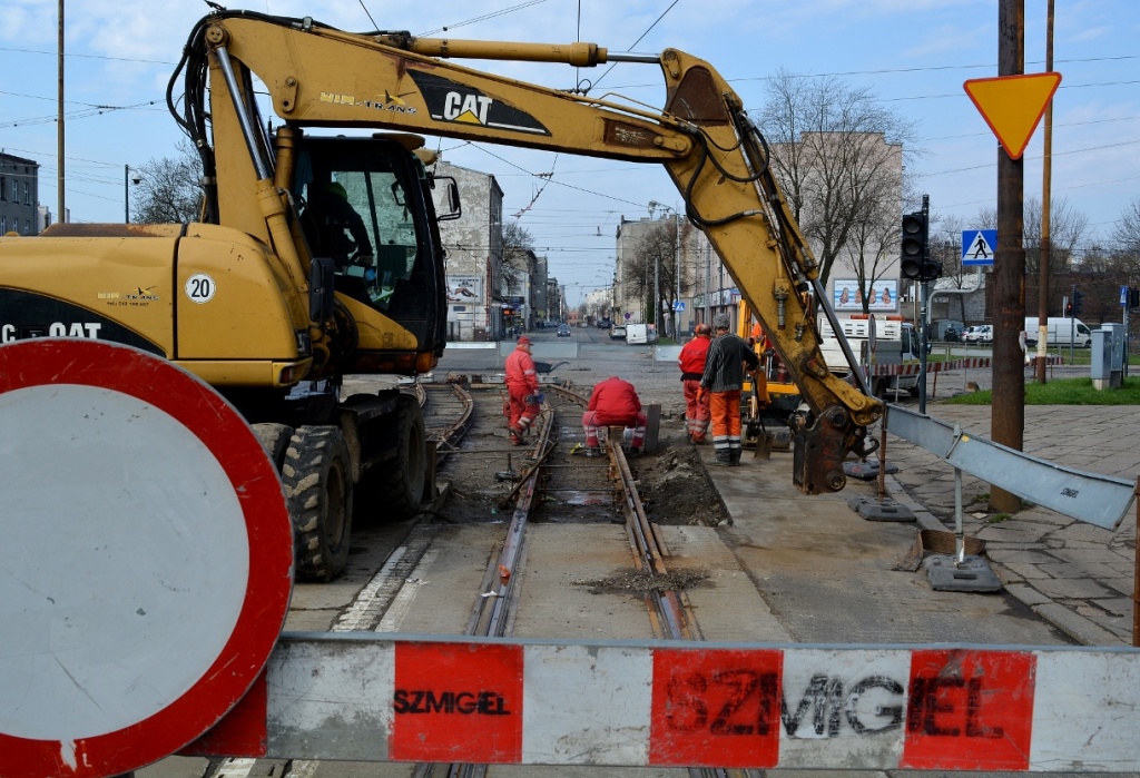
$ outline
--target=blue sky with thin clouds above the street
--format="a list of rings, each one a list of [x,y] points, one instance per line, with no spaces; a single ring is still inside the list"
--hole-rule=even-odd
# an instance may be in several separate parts
[[[784,69],[868,89],[914,128],[909,172],[936,218],[975,224],[995,207],[997,141],[963,89],[997,75],[997,0],[246,0],[246,8],[314,16],[348,31],[568,43],[708,60],[747,108],[764,105]],[[0,25],[0,150],[40,163],[40,200],[58,202],[59,0],[8,0]],[[1025,0],[1026,73],[1045,69],[1047,0]],[[166,83],[204,0],[65,0],[65,196],[72,221],[122,221],[124,169],[177,156],[184,137]],[[1088,216],[1084,243],[1109,245],[1140,198],[1140,2],[1054,0],[1051,193]],[[579,81],[660,107],[656,65],[596,68],[464,63],[557,89]],[[181,93],[181,84],[176,90]],[[448,162],[491,173],[504,213],[576,304],[612,280],[614,232],[650,203],[679,210],[663,170],[567,154],[430,139]],[[1043,131],[1025,159],[1025,196],[1041,199]],[[918,203],[914,204],[918,206]],[[660,210],[657,211],[660,214]]]

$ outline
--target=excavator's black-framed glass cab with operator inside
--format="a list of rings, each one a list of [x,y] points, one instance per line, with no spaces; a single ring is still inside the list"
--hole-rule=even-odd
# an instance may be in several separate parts
[[[399,324],[423,351],[442,345],[446,308],[431,178],[408,154],[417,142],[422,139],[414,136],[383,133],[308,136],[292,194],[311,256],[333,261],[337,297],[350,310],[365,306]],[[365,359],[367,335],[361,333],[358,344]]]

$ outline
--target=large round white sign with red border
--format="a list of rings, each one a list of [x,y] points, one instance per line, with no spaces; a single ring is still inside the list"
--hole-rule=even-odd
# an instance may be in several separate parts
[[[209,730],[288,611],[280,482],[207,385],[128,346],[0,346],[5,778],[96,777]]]

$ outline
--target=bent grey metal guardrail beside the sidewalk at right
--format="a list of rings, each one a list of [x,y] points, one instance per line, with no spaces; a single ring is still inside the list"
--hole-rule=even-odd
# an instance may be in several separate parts
[[[1077,521],[1115,530],[1132,505],[1134,482],[1039,459],[899,406],[888,404],[883,418],[887,432],[963,473]]]

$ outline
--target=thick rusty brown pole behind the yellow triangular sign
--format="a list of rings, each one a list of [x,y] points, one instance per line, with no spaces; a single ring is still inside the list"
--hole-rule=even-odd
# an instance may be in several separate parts
[[[999,0],[997,75],[1025,73],[1025,0]],[[1025,327],[1025,166],[997,147],[997,249],[994,256],[993,418],[991,437],[1017,451],[1025,434],[1025,369],[1019,333]],[[994,510],[1021,509],[1017,494],[991,486]]]

